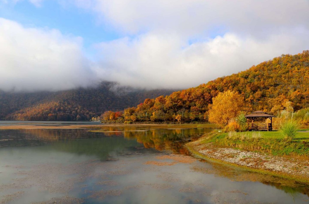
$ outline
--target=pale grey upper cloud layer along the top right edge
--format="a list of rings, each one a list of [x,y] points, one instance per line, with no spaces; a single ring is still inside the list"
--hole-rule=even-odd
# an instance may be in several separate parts
[[[306,0],[72,1],[79,7],[92,9],[105,23],[131,34],[172,31],[190,37],[220,30],[256,35],[290,26],[309,27]]]

